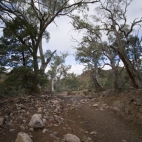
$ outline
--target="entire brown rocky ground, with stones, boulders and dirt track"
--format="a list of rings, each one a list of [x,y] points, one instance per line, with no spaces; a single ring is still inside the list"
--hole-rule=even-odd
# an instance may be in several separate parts
[[[1,98],[0,142],[142,142],[141,91],[110,94]]]

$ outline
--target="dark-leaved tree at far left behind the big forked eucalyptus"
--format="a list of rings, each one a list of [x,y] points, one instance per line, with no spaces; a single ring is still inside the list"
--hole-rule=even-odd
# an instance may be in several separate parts
[[[11,68],[19,66],[33,67],[33,61],[30,59],[33,52],[29,36],[35,36],[36,29],[32,28],[31,25],[28,25],[30,30],[25,28],[24,22],[21,23],[18,19],[14,19],[7,22],[6,27],[3,29],[3,36],[0,38],[2,66]],[[12,29],[12,32],[10,29]],[[20,40],[15,35],[19,36]]]

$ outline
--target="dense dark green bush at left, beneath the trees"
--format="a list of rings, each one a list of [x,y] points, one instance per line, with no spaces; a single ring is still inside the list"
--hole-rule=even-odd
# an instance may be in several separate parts
[[[24,95],[37,92],[36,84],[43,85],[46,80],[44,74],[39,72],[38,76],[35,76],[33,70],[29,67],[14,68],[8,73],[7,79],[0,84],[0,88],[3,86],[0,92],[7,95]]]

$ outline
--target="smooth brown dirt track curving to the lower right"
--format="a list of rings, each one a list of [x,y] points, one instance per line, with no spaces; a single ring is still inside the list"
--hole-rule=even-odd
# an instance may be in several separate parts
[[[81,98],[73,97],[73,99],[79,101]],[[95,108],[92,107],[93,104],[96,104]],[[98,100],[96,102],[90,100],[82,104],[79,109],[71,110],[67,119],[75,122],[72,126],[74,134],[83,138],[83,133],[75,129],[78,127],[85,131],[85,141],[142,142],[141,126],[125,119],[120,113],[107,106],[102,108],[103,105],[106,104]]]

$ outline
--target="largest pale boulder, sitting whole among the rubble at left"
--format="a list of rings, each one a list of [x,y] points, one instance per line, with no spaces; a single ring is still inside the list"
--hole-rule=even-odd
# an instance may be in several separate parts
[[[43,122],[41,117],[41,114],[34,114],[29,122],[29,126],[32,128],[42,128]]]

